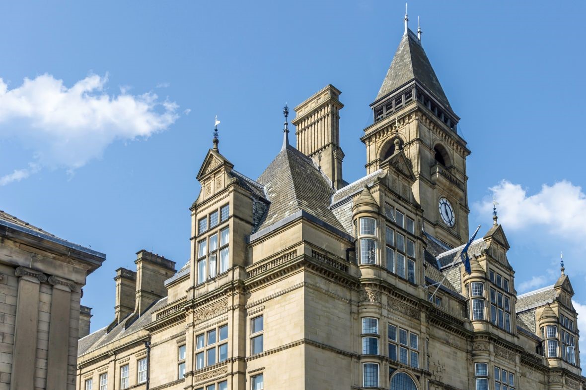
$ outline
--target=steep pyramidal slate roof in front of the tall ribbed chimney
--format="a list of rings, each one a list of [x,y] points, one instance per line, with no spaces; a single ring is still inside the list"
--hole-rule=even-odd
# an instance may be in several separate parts
[[[257,180],[263,185],[270,205],[258,230],[304,211],[345,232],[333,215],[330,200],[333,189],[311,158],[287,144]]]

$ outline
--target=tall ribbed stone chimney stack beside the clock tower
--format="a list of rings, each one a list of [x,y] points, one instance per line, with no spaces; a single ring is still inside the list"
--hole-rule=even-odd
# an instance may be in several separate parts
[[[343,187],[339,111],[344,105],[338,100],[340,93],[332,84],[327,85],[295,107],[296,116],[291,121],[297,128],[297,150],[321,167],[334,189]]]

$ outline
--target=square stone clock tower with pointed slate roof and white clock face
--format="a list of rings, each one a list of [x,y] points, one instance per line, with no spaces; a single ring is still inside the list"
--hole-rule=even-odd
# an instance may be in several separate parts
[[[373,124],[364,129],[366,170],[372,173],[403,149],[415,174],[413,194],[424,210],[424,230],[450,247],[468,241],[466,157],[459,117],[417,34],[405,30],[379,94],[370,104]],[[398,140],[396,142],[396,140]]]

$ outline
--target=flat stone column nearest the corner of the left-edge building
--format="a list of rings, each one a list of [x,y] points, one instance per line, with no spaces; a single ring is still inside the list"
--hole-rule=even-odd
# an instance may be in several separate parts
[[[71,290],[77,286],[70,281],[49,277],[53,285],[51,317],[49,327],[49,348],[47,351],[47,389],[67,388],[67,361],[69,360],[69,310]]]

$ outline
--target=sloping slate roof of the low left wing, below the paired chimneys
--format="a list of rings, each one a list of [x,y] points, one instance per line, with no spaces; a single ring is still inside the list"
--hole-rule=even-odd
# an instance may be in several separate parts
[[[161,298],[159,301],[156,301],[153,305],[151,305],[151,307],[148,308],[148,310],[140,317],[138,317],[137,320],[131,323],[127,329],[124,329],[124,321],[121,321],[109,333],[106,332],[108,327],[103,327],[94,333],[88,334],[86,337],[82,337],[79,339],[77,344],[77,356],[81,356],[97,348],[103,347],[114,340],[128,336],[128,334],[138,332],[152,322],[152,313],[163,308],[163,306],[166,304],[167,297],[165,296],[165,298]]]

